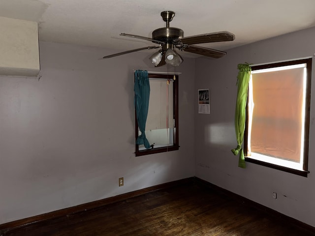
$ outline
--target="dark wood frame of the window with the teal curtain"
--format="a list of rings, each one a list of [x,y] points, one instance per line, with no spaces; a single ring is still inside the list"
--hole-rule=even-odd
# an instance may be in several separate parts
[[[174,75],[170,74],[155,74],[155,73],[148,73],[149,79],[170,79],[173,80]],[[173,129],[173,145],[167,147],[160,147],[160,148],[149,148],[144,150],[139,150],[139,145],[135,144],[135,155],[136,156],[143,156],[143,155],[150,155],[160,152],[167,152],[167,151],[175,151],[179,149],[179,135],[178,135],[178,75],[175,75],[176,80],[173,83],[173,118],[175,119],[174,129]],[[139,134],[139,126],[137,121],[137,112],[134,110],[134,117],[135,117],[135,140],[138,138]]]

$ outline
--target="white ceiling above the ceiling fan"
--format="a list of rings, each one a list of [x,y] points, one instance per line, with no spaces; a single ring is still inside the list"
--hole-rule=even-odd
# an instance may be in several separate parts
[[[223,51],[315,26],[315,0],[0,0],[0,16],[38,22],[41,41],[115,52],[157,45],[119,34],[151,37],[165,27],[165,10],[175,11],[170,26],[184,36],[234,33],[233,42],[199,45]]]

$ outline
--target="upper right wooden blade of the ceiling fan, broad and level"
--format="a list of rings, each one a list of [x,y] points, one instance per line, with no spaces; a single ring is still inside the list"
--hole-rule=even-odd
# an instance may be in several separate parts
[[[184,37],[181,39],[181,42],[184,44],[190,45],[190,44],[198,44],[198,43],[233,41],[234,39],[235,39],[234,34],[228,31],[222,31],[222,32],[206,33],[206,34]]]

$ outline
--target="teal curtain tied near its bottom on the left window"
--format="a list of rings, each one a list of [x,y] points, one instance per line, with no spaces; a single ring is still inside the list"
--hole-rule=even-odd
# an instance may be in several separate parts
[[[138,136],[136,144],[143,144],[145,148],[151,148],[145,134],[149,110],[149,98],[150,83],[148,71],[136,70],[134,72],[134,107],[136,109],[138,126],[141,131],[141,135]]]

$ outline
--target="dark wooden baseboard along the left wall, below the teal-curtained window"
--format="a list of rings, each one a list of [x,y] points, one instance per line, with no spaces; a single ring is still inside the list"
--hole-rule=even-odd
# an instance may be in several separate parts
[[[136,196],[139,196],[142,194],[146,194],[146,193],[149,193],[152,191],[157,191],[160,189],[167,189],[167,188],[171,188],[171,187],[179,186],[179,185],[183,185],[183,184],[189,184],[189,183],[192,183],[193,180],[194,180],[194,177],[189,177],[189,178],[184,178],[184,179],[180,179],[180,180],[176,180],[176,181],[172,181],[172,182],[162,183],[159,185],[155,185],[155,186],[148,187],[148,188],[143,188],[140,190],[136,190],[136,191],[132,191],[129,193],[117,195],[114,197],[101,199],[98,201],[85,203],[85,204],[81,204],[81,205],[74,206],[74,207],[68,207],[68,208],[64,208],[64,209],[60,209],[60,210],[55,210],[55,211],[52,211],[49,213],[45,213],[45,214],[36,215],[36,216],[28,217],[25,219],[21,219],[21,220],[16,220],[16,221],[4,223],[4,224],[0,225],[0,233],[5,232],[9,229],[20,228],[20,227],[23,227],[23,226],[26,226],[29,224],[39,222],[39,221],[50,220],[50,219],[53,219],[56,217],[61,217],[64,215],[78,213],[80,211],[95,209],[97,207],[103,207],[103,206],[111,204],[111,203],[123,201],[123,200],[129,199],[132,197],[136,197]]]

